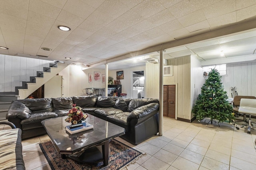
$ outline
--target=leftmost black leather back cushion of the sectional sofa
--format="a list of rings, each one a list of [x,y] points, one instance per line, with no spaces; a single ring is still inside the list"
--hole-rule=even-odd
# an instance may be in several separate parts
[[[25,104],[32,112],[33,111],[52,111],[52,99],[51,98],[40,98],[40,99],[24,99],[19,100]]]

